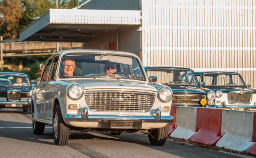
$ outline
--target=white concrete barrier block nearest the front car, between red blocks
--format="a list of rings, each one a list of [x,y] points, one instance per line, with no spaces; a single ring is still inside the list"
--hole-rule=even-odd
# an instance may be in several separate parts
[[[176,107],[176,122],[170,136],[190,139],[196,132],[196,108]]]

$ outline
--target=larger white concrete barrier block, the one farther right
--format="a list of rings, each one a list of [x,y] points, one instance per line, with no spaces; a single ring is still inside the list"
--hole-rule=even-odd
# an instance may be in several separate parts
[[[246,151],[252,142],[252,111],[222,110],[221,136],[216,146]]]

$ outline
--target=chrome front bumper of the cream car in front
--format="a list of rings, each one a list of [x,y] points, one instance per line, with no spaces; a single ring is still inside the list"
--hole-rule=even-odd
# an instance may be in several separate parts
[[[81,121],[83,122],[82,115],[69,115],[63,116],[64,121]],[[102,119],[120,120],[120,119],[136,119],[142,120],[142,122],[156,122],[154,116],[115,116],[115,115],[87,115],[86,122],[101,122]],[[171,122],[173,120],[172,116],[162,116],[160,123]]]

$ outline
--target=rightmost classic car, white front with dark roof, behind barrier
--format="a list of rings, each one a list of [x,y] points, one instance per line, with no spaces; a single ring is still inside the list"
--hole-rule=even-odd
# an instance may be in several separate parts
[[[203,87],[216,93],[215,107],[233,110],[256,110],[256,90],[245,85],[236,72],[195,72]]]

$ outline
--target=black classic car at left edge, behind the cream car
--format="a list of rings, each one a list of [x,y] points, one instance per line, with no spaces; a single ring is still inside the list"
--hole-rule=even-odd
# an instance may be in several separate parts
[[[30,108],[32,87],[25,73],[0,72],[0,108]]]

